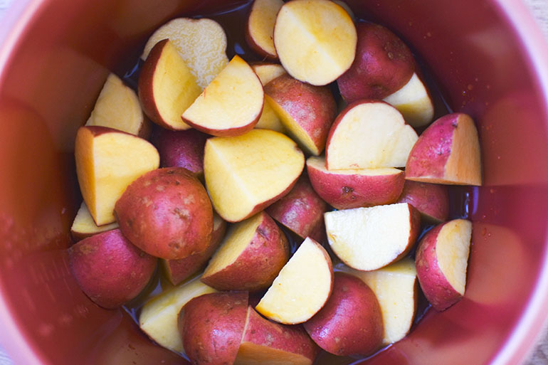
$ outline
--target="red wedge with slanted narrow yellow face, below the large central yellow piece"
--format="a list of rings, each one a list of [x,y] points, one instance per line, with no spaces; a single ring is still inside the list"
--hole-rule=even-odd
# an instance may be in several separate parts
[[[265,289],[289,260],[289,243],[265,212],[231,226],[201,277],[217,290]]]

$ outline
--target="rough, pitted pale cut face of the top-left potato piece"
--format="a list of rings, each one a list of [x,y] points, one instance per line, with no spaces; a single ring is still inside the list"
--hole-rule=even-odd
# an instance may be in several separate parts
[[[228,64],[226,34],[211,19],[176,18],[165,23],[149,38],[141,58],[146,60],[152,47],[163,39],[174,43],[202,89]]]

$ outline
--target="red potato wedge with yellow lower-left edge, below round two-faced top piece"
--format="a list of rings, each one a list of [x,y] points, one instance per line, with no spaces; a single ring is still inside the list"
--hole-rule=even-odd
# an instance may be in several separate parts
[[[265,95],[297,144],[309,154],[322,153],[337,112],[330,89],[285,74],[265,85]]]

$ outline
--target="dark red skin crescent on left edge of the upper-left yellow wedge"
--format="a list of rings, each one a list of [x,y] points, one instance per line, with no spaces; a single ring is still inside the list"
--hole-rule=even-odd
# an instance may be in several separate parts
[[[139,101],[141,102],[141,107],[144,114],[152,120],[155,124],[160,127],[167,129],[173,129],[172,126],[164,122],[162,115],[158,108],[156,107],[156,102],[154,102],[154,92],[152,90],[152,79],[154,78],[154,70],[162,52],[164,51],[164,46],[166,45],[169,39],[164,39],[159,41],[154,45],[152,50],[147,57],[147,60],[144,61],[142,65],[141,72],[139,73],[139,81],[137,82],[137,95],[139,96]]]

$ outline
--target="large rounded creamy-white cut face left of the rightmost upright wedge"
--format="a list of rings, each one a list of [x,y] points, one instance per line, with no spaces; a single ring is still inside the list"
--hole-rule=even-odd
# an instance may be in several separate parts
[[[328,169],[404,167],[418,136],[396,108],[364,102],[342,117],[327,143]]]

